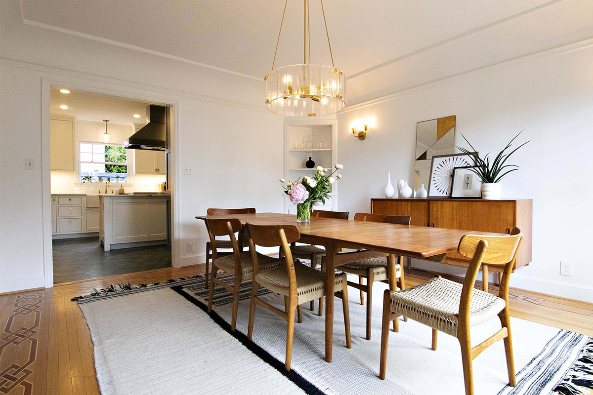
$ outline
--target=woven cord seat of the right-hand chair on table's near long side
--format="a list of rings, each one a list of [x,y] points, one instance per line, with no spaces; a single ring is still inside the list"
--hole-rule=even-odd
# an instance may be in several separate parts
[[[295,263],[295,274],[297,277],[298,304],[324,296],[326,288],[326,274],[324,272]],[[288,296],[289,294],[288,270],[285,266],[267,269],[265,271],[262,271],[260,268],[260,272],[256,275],[256,281],[262,287],[280,295]],[[336,291],[342,290],[342,275],[336,274],[334,277],[334,287]]]

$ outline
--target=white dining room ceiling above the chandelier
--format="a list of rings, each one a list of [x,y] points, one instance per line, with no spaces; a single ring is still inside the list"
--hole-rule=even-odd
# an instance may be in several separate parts
[[[329,64],[320,2],[310,4],[311,60]],[[283,6],[21,0],[25,23],[258,79],[272,66]],[[391,82],[393,91],[593,37],[592,0],[326,0],[324,7],[335,65],[360,98],[385,78],[410,80]],[[302,62],[302,13],[302,0],[288,1],[277,66]]]

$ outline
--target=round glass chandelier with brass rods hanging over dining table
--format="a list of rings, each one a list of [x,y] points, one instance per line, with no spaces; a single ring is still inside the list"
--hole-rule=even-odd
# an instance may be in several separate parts
[[[286,14],[286,5],[288,4],[288,0],[286,0],[278,40],[276,41],[272,71],[264,78],[266,81],[266,106],[273,113],[285,117],[313,117],[315,115],[335,114],[346,107],[346,76],[333,63],[323,0],[320,0],[321,12],[323,13],[323,22],[326,25],[331,66],[311,64],[311,34],[309,34],[308,41],[309,62],[307,63],[307,31],[310,31],[309,0],[303,1],[303,63],[274,68],[280,33],[282,33],[282,24]]]

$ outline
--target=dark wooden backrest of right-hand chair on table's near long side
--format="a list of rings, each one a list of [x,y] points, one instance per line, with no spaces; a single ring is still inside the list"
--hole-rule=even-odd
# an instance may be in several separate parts
[[[288,271],[289,292],[297,297],[297,275],[295,274],[295,264],[292,259],[290,244],[301,238],[298,227],[295,225],[256,225],[247,223],[247,234],[249,235],[249,249],[253,261],[253,277],[259,272],[256,245],[262,247],[282,246],[286,270]]]

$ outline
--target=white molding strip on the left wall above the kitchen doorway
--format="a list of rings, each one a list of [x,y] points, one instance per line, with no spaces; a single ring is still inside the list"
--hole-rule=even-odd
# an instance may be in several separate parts
[[[184,97],[184,98],[196,99],[196,100],[206,101],[206,102],[211,102],[211,103],[216,103],[216,104],[229,105],[231,107],[244,108],[246,110],[251,110],[251,111],[260,111],[262,113],[269,113],[270,115],[274,115],[269,110],[267,110],[267,107],[265,105],[248,104],[248,103],[232,101],[232,100],[228,100],[228,99],[221,99],[221,98],[216,98],[216,97],[211,97],[211,96],[206,96],[206,95],[195,94],[193,92],[180,91],[178,89],[164,88],[162,86],[157,86],[157,85],[141,84],[138,82],[130,82],[130,81],[122,80],[122,79],[103,77],[103,76],[98,76],[98,75],[94,75],[94,74],[90,74],[90,73],[81,73],[81,72],[76,72],[76,71],[72,71],[72,70],[53,68],[51,66],[37,65],[36,63],[21,62],[20,60],[7,59],[5,57],[0,57],[0,66],[12,67],[12,68],[17,68],[17,69],[19,69],[19,68],[27,69],[27,70],[39,72],[40,74],[42,74],[46,77],[58,76],[60,78],[63,78],[63,77],[67,77],[67,78],[71,78],[71,79],[74,78],[74,79],[83,81],[85,83],[85,85],[89,85],[89,84],[94,85],[97,83],[116,84],[122,88],[127,89],[130,92],[130,95],[133,95],[133,92],[136,92],[139,89],[144,90],[144,91],[146,91],[146,90],[158,91],[160,97],[162,97],[163,95],[173,97],[173,98]],[[92,88],[89,88],[89,89],[92,89]],[[121,96],[121,95],[119,95],[119,96]],[[155,99],[155,102],[158,102],[158,99]],[[280,115],[278,115],[278,116],[280,116]]]

